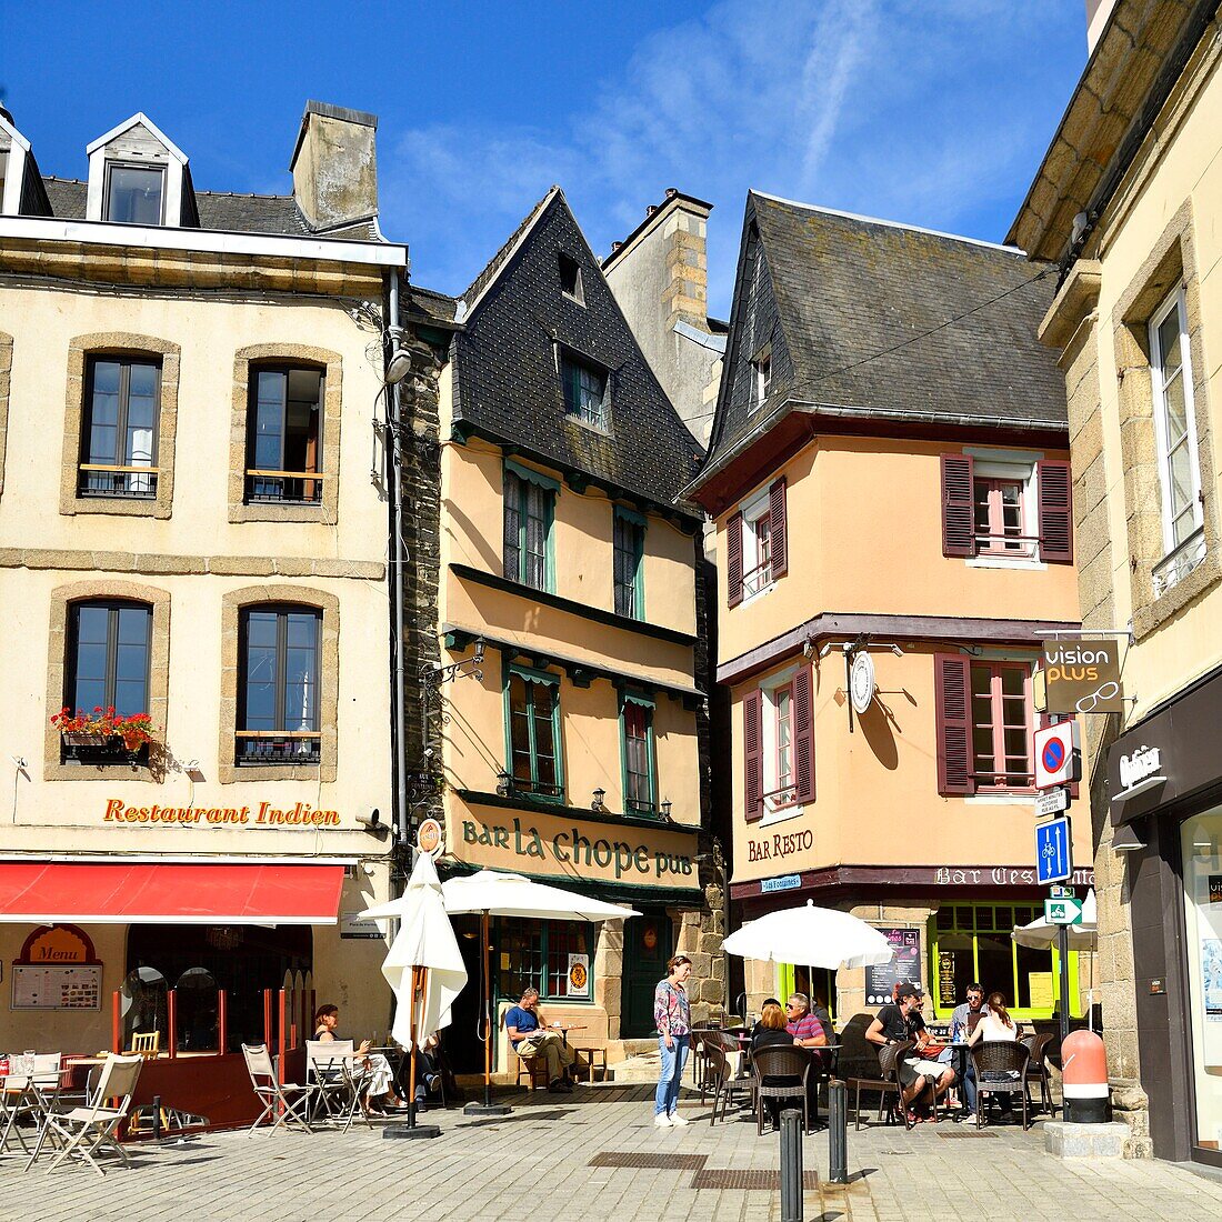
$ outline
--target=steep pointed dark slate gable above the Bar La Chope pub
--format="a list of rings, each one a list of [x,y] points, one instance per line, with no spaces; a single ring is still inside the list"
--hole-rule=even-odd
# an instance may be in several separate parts
[[[584,306],[561,293],[561,253],[580,266]],[[479,430],[557,469],[673,505],[695,474],[699,450],[558,187],[535,204],[463,301],[453,349],[457,434]],[[610,433],[566,413],[557,346],[610,370]]]

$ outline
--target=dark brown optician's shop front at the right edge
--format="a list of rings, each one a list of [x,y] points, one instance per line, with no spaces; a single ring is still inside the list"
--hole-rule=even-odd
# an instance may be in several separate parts
[[[1112,744],[1107,797],[1133,930],[1156,1157],[1222,1167],[1222,672]]]

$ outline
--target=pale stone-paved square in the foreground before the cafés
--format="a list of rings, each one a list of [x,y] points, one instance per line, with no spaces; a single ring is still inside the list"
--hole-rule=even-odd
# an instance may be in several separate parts
[[[141,1149],[132,1169],[105,1179],[87,1168],[0,1163],[0,1217],[12,1222],[161,1222],[161,1220],[523,1218],[601,1222],[613,1218],[780,1220],[774,1188],[716,1187],[719,1172],[775,1172],[778,1141],[756,1138],[754,1121],[710,1125],[709,1108],[686,1097],[687,1128],[653,1125],[643,1086],[578,1088],[571,1096],[506,1096],[513,1112],[496,1119],[461,1108],[429,1112],[436,1140],[385,1140],[354,1127],[321,1132],[215,1134]],[[642,1155],[643,1167],[616,1167],[613,1155]],[[657,1156],[687,1156],[659,1166]],[[649,1166],[648,1163],[653,1163]],[[1079,1160],[1044,1154],[1039,1124],[967,1130],[951,1123],[849,1129],[852,1183],[824,1182],[826,1133],[805,1143],[805,1216],[824,1222],[991,1222],[1222,1218],[1222,1182],[1162,1162]],[[749,1179],[752,1177],[742,1177]],[[756,1178],[766,1178],[759,1176]],[[712,1187],[701,1187],[704,1184]]]

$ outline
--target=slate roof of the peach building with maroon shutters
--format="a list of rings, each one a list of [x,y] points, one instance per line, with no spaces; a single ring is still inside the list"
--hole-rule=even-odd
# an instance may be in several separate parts
[[[1019,251],[750,192],[709,466],[787,400],[1064,428],[1064,381],[1036,338],[1056,281],[1039,274]],[[749,412],[769,343],[772,392]]]

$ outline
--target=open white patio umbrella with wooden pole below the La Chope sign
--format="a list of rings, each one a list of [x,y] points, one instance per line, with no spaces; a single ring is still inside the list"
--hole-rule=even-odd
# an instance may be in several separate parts
[[[483,938],[483,980],[480,982],[484,1018],[480,1039],[484,1041],[484,1102],[468,1103],[468,1112],[501,1114],[508,1107],[492,1107],[492,1001],[490,997],[491,970],[489,956],[489,920],[492,916],[523,916],[536,920],[623,920],[639,916],[633,908],[609,904],[602,899],[590,899],[576,891],[535,882],[521,874],[502,874],[499,870],[480,870],[478,874],[447,879],[441,885],[446,912],[479,913]]]

